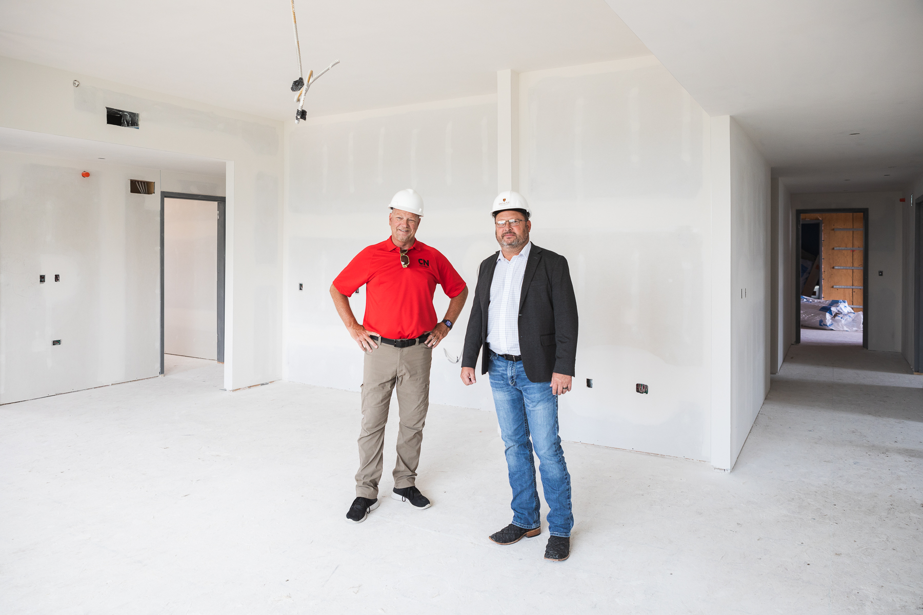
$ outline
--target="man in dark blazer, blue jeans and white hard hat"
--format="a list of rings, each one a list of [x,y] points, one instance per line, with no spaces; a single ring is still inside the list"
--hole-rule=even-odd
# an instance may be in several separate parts
[[[462,382],[490,373],[497,420],[506,445],[513,520],[490,536],[501,545],[541,532],[533,445],[548,503],[545,560],[570,555],[570,474],[557,434],[557,396],[566,394],[577,355],[577,300],[564,256],[529,241],[532,212],[525,198],[503,192],[493,211],[500,251],[481,263],[468,330]],[[531,438],[531,439],[530,439]]]

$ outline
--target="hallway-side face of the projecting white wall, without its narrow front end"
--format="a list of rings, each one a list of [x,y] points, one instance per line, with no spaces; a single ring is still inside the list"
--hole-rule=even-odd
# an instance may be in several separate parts
[[[770,167],[730,118],[731,467],[769,393]]]

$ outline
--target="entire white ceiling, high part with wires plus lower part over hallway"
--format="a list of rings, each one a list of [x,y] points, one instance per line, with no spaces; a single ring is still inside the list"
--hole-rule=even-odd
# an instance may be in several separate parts
[[[920,0],[296,8],[306,69],[342,61],[311,89],[312,116],[491,93],[503,68],[653,52],[706,112],[734,115],[795,192],[901,189],[923,171]],[[0,54],[265,117],[294,113],[285,0],[4,2]]]

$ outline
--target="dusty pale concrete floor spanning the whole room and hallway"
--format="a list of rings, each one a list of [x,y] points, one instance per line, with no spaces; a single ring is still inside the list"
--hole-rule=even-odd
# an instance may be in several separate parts
[[[433,507],[350,525],[357,394],[227,393],[213,362],[168,357],[165,378],[7,405],[0,613],[918,613],[923,377],[831,340],[787,353],[730,474],[565,444],[563,563],[546,531],[486,539],[510,517],[492,413],[431,408]]]

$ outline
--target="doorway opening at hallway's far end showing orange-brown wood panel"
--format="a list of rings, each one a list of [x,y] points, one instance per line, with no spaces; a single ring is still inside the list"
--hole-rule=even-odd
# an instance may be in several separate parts
[[[869,348],[869,209],[798,209],[795,343]]]

